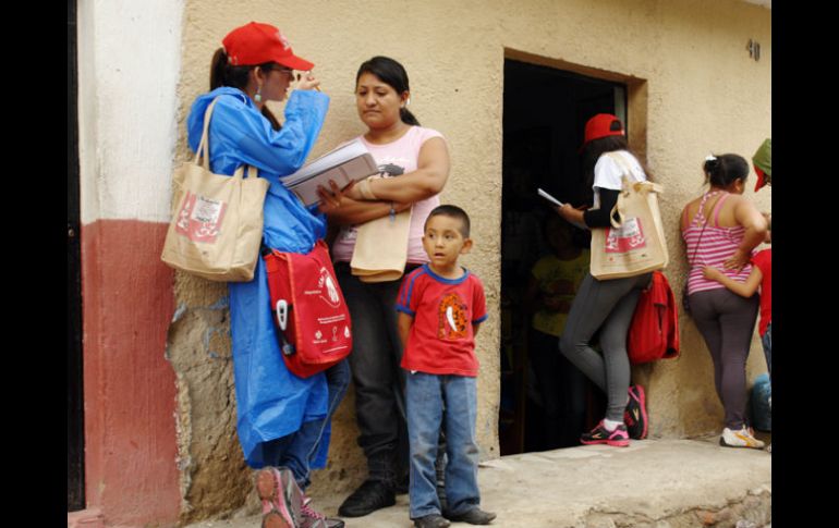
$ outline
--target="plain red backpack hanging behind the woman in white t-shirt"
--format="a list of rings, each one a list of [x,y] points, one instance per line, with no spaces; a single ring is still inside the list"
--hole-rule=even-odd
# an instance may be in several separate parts
[[[660,271],[653,272],[649,287],[641,292],[627,336],[627,353],[633,365],[679,357],[679,311]]]

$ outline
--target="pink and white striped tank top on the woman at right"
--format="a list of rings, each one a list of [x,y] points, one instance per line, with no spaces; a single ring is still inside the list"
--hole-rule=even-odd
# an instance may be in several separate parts
[[[735,228],[721,228],[719,225],[719,210],[722,207],[722,202],[728,198],[728,193],[722,194],[712,212],[714,224],[705,225],[708,222],[702,213],[705,209],[705,202],[708,198],[719,193],[721,192],[705,193],[705,196],[703,196],[702,201],[700,202],[700,209],[696,211],[693,220],[691,220],[690,225],[682,231],[682,238],[684,238],[684,243],[688,246],[688,263],[691,265],[691,271],[688,275],[688,295],[706,290],[726,287],[717,281],[712,281],[702,277],[702,269],[705,266],[717,268],[737,282],[745,282],[749,274],[752,272],[751,263],[746,265],[739,272],[722,268],[722,262],[728,260],[740,246],[740,243],[743,242],[745,228],[742,225]],[[686,208],[684,214],[688,214]],[[704,232],[703,226],[705,228]],[[700,245],[698,248],[696,247],[697,244]]]

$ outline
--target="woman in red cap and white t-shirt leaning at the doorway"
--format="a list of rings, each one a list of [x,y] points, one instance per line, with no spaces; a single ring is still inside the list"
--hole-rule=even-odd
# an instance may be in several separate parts
[[[610,152],[619,159],[606,156]],[[587,185],[594,189],[594,207],[582,211],[563,204],[557,207],[557,212],[569,222],[589,230],[609,228],[610,212],[622,188],[621,176],[643,182],[647,180],[646,172],[630,151],[620,120],[608,113],[597,114],[586,123],[582,156]],[[608,398],[606,417],[580,438],[584,444],[623,447],[629,445],[630,438],[646,438],[644,389],[630,386],[627,331],[641,291],[650,279],[652,273],[643,273],[600,281],[589,272],[571,304],[560,351]],[[591,345],[598,331],[603,355]]]

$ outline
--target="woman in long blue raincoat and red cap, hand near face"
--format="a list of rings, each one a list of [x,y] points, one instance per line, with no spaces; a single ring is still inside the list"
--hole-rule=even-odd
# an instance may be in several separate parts
[[[244,163],[258,169],[259,177],[270,182],[265,244],[307,254],[325,236],[326,218],[317,206],[305,207],[280,177],[305,161],[329,98],[315,90],[319,82],[311,74],[314,64],[296,57],[277,27],[252,22],[230,32],[222,44],[212,57],[211,91],[195,100],[187,118],[190,147],[198,148],[205,111],[217,101],[209,123],[210,169],[217,174],[233,174]],[[280,126],[265,103],[287,97],[295,71],[307,73],[291,93]],[[327,194],[321,198],[331,199]],[[312,509],[293,483],[305,490],[309,469],[326,465],[329,423],[346,391],[349,366],[342,361],[305,379],[285,368],[262,259],[251,282],[228,287],[236,430],[247,464],[263,468],[256,476],[263,526],[343,526],[340,519],[326,519]]]

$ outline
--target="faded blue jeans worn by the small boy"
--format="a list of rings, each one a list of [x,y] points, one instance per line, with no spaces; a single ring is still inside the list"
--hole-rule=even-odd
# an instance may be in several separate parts
[[[477,384],[465,376],[409,373],[405,382],[408,437],[411,443],[412,519],[441,514],[435,461],[446,408],[447,513],[462,515],[481,504],[475,442]]]

